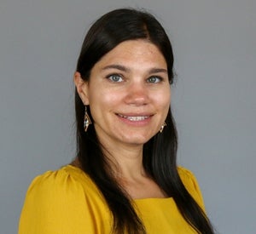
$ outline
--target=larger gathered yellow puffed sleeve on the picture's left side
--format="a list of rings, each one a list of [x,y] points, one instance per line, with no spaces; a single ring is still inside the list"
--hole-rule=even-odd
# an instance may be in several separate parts
[[[19,234],[94,233],[85,201],[82,185],[70,174],[46,172],[32,181],[26,193]]]

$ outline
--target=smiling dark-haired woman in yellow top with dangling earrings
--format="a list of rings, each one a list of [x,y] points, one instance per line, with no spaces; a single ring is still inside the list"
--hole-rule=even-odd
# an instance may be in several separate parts
[[[116,9],[84,38],[74,74],[76,159],[33,180],[21,233],[213,233],[177,167],[173,55],[151,14]]]

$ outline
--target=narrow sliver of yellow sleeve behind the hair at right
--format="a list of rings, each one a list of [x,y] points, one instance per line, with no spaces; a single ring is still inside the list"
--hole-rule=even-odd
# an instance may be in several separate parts
[[[198,203],[198,205],[205,211],[203,197],[195,175],[192,174],[192,172],[188,169],[182,167],[178,168],[178,174],[183,181],[183,185],[186,187],[187,191],[189,191],[189,194],[195,199],[195,202]]]

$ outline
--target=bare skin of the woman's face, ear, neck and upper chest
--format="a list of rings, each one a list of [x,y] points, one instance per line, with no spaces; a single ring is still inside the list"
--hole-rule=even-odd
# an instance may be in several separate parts
[[[160,50],[141,39],[119,43],[93,66],[89,82],[76,72],[74,83],[120,184],[133,198],[165,197],[142,163],[143,144],[165,123],[171,100]]]

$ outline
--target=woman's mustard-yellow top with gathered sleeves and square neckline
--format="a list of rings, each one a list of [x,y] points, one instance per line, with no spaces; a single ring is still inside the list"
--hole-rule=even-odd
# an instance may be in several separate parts
[[[183,184],[204,209],[193,174],[178,168]],[[148,234],[196,233],[172,198],[134,200]],[[20,215],[19,234],[110,233],[112,214],[96,185],[82,170],[65,166],[36,177]]]

